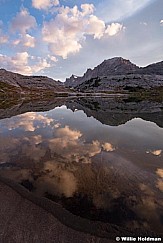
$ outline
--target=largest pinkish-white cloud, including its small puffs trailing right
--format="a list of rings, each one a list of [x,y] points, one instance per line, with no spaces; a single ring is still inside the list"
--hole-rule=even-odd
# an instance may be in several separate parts
[[[56,17],[44,22],[42,28],[43,41],[47,42],[49,51],[66,59],[69,54],[80,51],[88,35],[101,39],[108,32],[113,36],[122,29],[118,23],[109,29],[93,11],[93,4],[82,4],[81,10],[77,6],[60,7]]]

